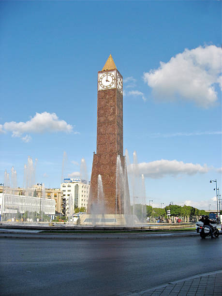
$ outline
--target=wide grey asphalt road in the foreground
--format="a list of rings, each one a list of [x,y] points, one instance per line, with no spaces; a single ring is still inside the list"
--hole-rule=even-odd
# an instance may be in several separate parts
[[[1,295],[116,295],[222,268],[221,238],[0,239]]]

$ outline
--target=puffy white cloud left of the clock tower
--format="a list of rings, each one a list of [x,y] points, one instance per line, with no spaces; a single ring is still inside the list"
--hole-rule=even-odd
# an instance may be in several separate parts
[[[2,126],[1,126],[2,129]],[[29,142],[31,137],[24,133],[56,133],[56,132],[73,132],[73,126],[65,120],[61,120],[55,113],[36,113],[30,120],[23,122],[5,122],[3,132],[12,132],[13,137],[21,137],[24,142]],[[75,134],[78,132],[74,132]]]

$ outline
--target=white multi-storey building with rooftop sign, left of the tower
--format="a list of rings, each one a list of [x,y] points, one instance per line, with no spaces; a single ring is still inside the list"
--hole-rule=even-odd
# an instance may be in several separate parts
[[[90,182],[83,179],[66,178],[61,183],[60,190],[63,193],[63,198],[66,199],[66,215],[70,213],[69,201],[70,196],[73,198],[73,208],[71,214],[74,213],[74,207],[86,207],[88,206],[89,199],[89,187]]]

